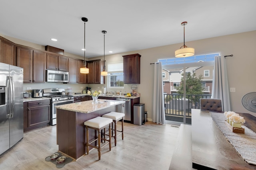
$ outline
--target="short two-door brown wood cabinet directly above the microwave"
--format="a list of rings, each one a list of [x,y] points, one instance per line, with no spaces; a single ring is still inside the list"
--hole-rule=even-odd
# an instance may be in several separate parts
[[[46,68],[50,70],[68,71],[68,57],[47,53]]]

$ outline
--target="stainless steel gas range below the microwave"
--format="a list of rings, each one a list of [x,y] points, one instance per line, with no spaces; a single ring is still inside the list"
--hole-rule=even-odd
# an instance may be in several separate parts
[[[51,98],[50,102],[50,125],[56,125],[55,106],[74,103],[74,96],[63,94],[64,88],[46,88],[43,90],[43,97]]]

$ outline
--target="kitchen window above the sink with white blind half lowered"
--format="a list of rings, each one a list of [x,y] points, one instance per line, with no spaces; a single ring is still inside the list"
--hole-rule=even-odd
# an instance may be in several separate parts
[[[124,88],[122,61],[108,63],[108,88]]]

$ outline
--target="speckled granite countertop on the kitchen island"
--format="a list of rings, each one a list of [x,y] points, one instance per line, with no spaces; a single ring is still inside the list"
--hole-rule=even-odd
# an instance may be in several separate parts
[[[120,100],[104,100],[98,99],[98,104],[92,103],[92,100],[84,101],[84,102],[77,102],[72,104],[64,104],[55,106],[57,109],[75,111],[80,113],[90,113],[93,111],[101,110],[104,108],[108,108],[111,106],[116,106],[118,104],[125,103],[125,101]]]

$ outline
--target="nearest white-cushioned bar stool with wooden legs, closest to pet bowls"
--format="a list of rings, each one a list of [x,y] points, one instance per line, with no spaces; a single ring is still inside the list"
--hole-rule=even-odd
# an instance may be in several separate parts
[[[86,128],[86,150],[87,150],[87,154],[89,154],[89,147],[93,147],[98,149],[98,156],[99,156],[99,160],[100,160],[100,151],[101,149],[106,146],[107,144],[109,144],[109,150],[111,150],[111,137],[108,139],[105,139],[105,137],[103,137],[102,139],[104,141],[108,141],[105,145],[103,145],[102,147],[100,146],[101,144],[101,133],[100,131],[102,129],[104,129],[104,131],[106,130],[105,128],[108,127],[109,131],[111,130],[111,123],[113,122],[112,119],[106,118],[106,117],[95,117],[93,119],[90,119],[88,121],[84,122],[85,128]],[[91,143],[93,143],[94,141],[89,143],[89,130],[88,128],[94,129],[98,131],[98,138],[95,139],[94,141],[98,140],[98,146],[93,146],[90,145]]]

